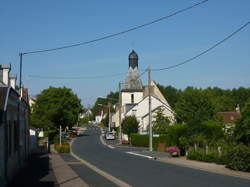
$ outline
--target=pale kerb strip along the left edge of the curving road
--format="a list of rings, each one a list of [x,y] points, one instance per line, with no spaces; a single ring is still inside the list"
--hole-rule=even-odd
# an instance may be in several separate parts
[[[90,164],[89,162],[87,162],[86,160],[83,160],[82,158],[78,157],[75,153],[73,153],[72,151],[72,144],[73,144],[74,140],[70,142],[70,147],[71,147],[71,151],[70,154],[75,157],[77,160],[79,160],[81,163],[83,163],[85,166],[87,166],[88,168],[94,170],[96,173],[100,174],[101,176],[105,177],[106,179],[110,180],[111,182],[117,184],[118,186],[128,186],[130,187],[131,185],[129,185],[126,182],[123,182],[122,180],[110,175],[109,173],[97,168],[96,166]]]

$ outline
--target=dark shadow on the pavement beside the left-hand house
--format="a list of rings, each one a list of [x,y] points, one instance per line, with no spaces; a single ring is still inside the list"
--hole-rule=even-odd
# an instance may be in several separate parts
[[[56,182],[48,154],[33,154],[26,167],[21,169],[9,187],[54,187]]]

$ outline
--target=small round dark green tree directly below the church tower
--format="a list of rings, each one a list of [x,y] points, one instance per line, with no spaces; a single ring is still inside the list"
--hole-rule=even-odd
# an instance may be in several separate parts
[[[139,122],[135,116],[126,116],[122,120],[122,132],[127,134],[130,140],[132,133],[137,133],[139,129]]]

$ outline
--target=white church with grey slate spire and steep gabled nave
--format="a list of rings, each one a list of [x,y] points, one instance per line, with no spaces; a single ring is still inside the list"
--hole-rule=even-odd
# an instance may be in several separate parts
[[[142,85],[138,72],[138,55],[134,50],[129,54],[128,60],[128,75],[121,89],[121,119],[134,115],[139,122],[139,132],[146,133],[149,126],[149,90],[151,90],[152,121],[154,121],[157,110],[161,108],[163,115],[168,117],[171,123],[174,123],[174,111],[162,95],[156,83],[152,80],[150,82],[150,89],[148,85]],[[112,124],[119,127],[118,109],[116,113],[112,115]]]

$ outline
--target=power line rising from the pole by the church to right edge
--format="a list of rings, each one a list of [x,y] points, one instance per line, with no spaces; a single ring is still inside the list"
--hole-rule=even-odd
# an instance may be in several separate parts
[[[165,67],[165,68],[158,68],[158,69],[152,69],[152,71],[162,71],[162,70],[168,70],[168,69],[173,69],[173,68],[176,68],[178,66],[181,66],[181,65],[184,65],[188,62],[191,62],[197,58],[199,58],[200,56],[208,53],[209,51],[213,50],[214,48],[216,48],[217,46],[221,45],[222,43],[224,43],[225,41],[229,40],[231,37],[233,37],[235,34],[237,34],[238,32],[240,32],[242,29],[244,29],[246,26],[248,26],[250,24],[250,21],[248,21],[247,23],[245,23],[244,25],[242,25],[240,28],[238,28],[237,30],[235,30],[233,33],[231,33],[230,35],[228,35],[227,37],[225,37],[223,40],[215,43],[214,45],[212,45],[211,47],[209,47],[208,49],[206,49],[205,51],[187,59],[187,60],[184,60],[183,62],[180,62],[178,64],[175,64],[175,65],[172,65],[172,66],[168,66],[168,67]]]

